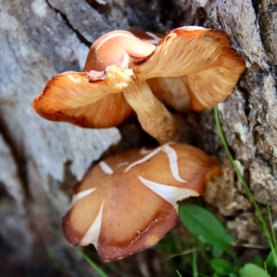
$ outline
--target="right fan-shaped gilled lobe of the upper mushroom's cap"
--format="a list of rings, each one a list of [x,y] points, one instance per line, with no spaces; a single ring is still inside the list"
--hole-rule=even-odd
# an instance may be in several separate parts
[[[166,53],[166,55],[164,55]],[[134,69],[153,93],[177,111],[201,111],[226,100],[245,62],[221,30],[181,27],[160,40]]]

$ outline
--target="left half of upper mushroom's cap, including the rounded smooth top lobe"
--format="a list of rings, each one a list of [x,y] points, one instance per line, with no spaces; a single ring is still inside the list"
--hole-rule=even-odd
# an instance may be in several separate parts
[[[83,73],[68,71],[47,82],[33,101],[37,114],[80,127],[104,128],[123,123],[132,113],[122,93],[132,75],[125,69],[132,69],[155,48],[148,42],[153,39],[150,35],[134,33],[116,30],[97,39]]]

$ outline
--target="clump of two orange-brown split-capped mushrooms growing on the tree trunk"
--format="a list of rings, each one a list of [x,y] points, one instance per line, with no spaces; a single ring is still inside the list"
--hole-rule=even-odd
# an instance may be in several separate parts
[[[177,202],[203,195],[217,162],[177,143],[175,111],[202,111],[233,91],[244,60],[226,33],[181,27],[159,37],[116,30],[91,46],[83,72],[55,75],[35,98],[37,113],[80,127],[123,123],[133,111],[160,143],[115,154],[93,166],[74,188],[62,227],[72,245],[94,244],[102,261],[157,243],[177,224]]]

